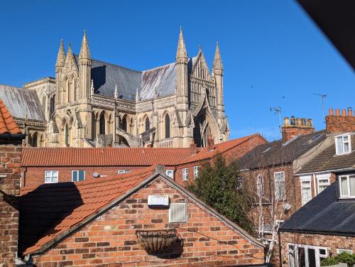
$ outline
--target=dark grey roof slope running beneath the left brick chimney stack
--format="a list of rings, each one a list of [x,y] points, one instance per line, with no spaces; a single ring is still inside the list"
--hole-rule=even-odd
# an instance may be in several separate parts
[[[312,138],[319,136],[312,143],[307,144]],[[257,146],[249,153],[236,161],[241,169],[258,169],[274,165],[287,165],[299,158],[310,148],[322,143],[326,138],[325,131],[297,136],[292,141],[283,143],[282,140],[273,141]]]

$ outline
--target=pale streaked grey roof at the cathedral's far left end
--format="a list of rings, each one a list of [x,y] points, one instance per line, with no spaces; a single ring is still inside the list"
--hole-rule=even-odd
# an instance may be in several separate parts
[[[45,121],[42,106],[36,92],[9,85],[0,85],[0,98],[15,119]]]

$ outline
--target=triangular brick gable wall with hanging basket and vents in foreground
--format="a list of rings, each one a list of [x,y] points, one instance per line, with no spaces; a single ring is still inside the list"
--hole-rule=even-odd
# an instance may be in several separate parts
[[[187,222],[169,224],[168,209],[150,209],[148,195],[187,202]],[[176,228],[182,250],[154,256],[137,243],[136,230]],[[107,213],[33,258],[36,266],[232,266],[263,263],[263,248],[227,227],[162,179],[154,180]]]

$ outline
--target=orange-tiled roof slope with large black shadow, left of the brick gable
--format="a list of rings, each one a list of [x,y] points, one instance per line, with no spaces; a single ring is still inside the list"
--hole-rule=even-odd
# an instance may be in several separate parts
[[[110,179],[61,182],[22,190],[20,197],[20,241],[23,254],[38,251],[56,241],[75,225],[90,219],[114,200],[123,197],[154,172],[154,167]]]

